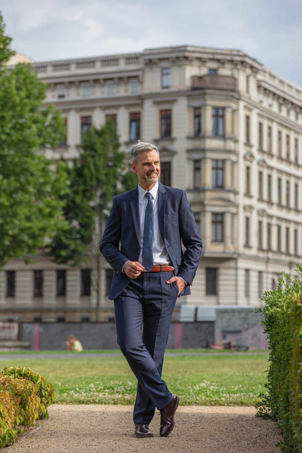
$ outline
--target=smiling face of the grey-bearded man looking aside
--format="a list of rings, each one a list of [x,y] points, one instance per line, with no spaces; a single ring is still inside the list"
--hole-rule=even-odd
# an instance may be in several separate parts
[[[131,168],[139,178],[139,185],[149,190],[158,181],[160,175],[159,155],[155,149],[139,153]],[[150,187],[151,186],[151,187]]]

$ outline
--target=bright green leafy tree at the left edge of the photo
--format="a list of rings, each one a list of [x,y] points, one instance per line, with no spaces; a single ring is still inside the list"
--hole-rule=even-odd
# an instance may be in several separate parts
[[[4,31],[0,14],[0,267],[34,255],[64,229],[61,195],[68,190],[65,165],[53,169],[39,152],[62,137],[60,113],[43,107],[47,87],[31,65],[5,65],[13,52]]]

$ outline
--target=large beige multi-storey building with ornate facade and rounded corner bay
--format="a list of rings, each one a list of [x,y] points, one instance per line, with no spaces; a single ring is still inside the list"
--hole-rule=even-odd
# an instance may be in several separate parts
[[[181,46],[34,64],[66,118],[54,159],[108,117],[122,146],[158,145],[161,182],[185,189],[203,239],[195,305],[260,306],[302,256],[302,87],[238,50]],[[112,270],[102,274],[103,316]],[[24,319],[94,319],[89,270],[37,257],[0,273],[0,307]],[[92,278],[94,271],[91,270]]]

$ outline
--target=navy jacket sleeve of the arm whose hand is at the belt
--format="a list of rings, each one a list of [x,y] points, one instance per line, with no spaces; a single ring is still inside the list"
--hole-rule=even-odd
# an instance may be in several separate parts
[[[122,219],[118,210],[115,197],[112,199],[112,208],[109,219],[105,227],[102,242],[100,245],[101,254],[104,256],[107,263],[120,275],[126,261],[129,260],[120,251]]]

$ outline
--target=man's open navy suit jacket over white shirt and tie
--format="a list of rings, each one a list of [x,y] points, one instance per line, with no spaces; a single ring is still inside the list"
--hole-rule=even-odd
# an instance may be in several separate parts
[[[158,225],[176,275],[188,282],[180,295],[191,294],[190,285],[199,264],[202,241],[184,190],[158,184]],[[126,261],[139,259],[140,237],[136,187],[113,197],[100,246],[105,260],[115,270],[109,299],[116,299],[128,285],[130,278],[121,270]],[[182,243],[186,247],[184,253]]]

